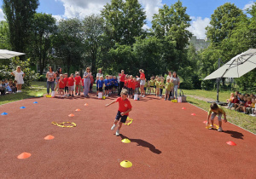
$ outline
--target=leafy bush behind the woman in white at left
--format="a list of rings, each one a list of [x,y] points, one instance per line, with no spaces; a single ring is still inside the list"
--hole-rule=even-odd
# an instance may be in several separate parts
[[[30,60],[26,61],[20,61],[19,58],[12,58],[10,59],[9,66],[8,65],[3,65],[2,69],[0,69],[0,77],[1,78],[15,78],[11,75],[11,72],[14,72],[16,70],[16,66],[21,67],[21,71],[25,73],[25,78],[24,78],[24,85],[22,87],[29,87],[32,84],[32,81],[38,79],[38,73],[35,71],[31,70],[30,66]]]

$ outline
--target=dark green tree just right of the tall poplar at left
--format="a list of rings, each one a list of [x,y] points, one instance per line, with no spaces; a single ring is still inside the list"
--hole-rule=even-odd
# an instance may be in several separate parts
[[[51,14],[34,14],[32,24],[32,48],[31,54],[35,61],[38,62],[40,75],[43,74],[44,68],[49,62],[49,55],[52,49],[52,36],[55,34],[57,26],[55,18]]]

